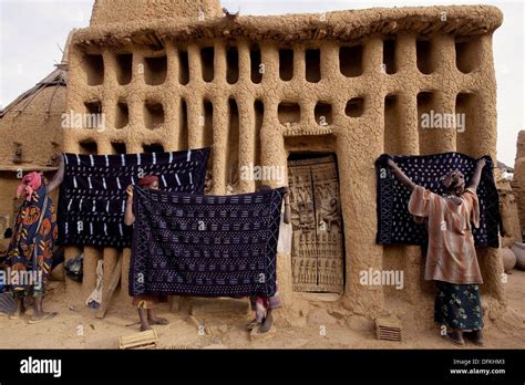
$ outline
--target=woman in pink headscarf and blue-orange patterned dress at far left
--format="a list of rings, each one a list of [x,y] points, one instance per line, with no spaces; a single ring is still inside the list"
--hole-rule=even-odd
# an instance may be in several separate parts
[[[33,298],[30,323],[38,323],[56,315],[44,312],[42,302],[45,284],[53,262],[56,239],[56,211],[50,194],[64,177],[64,160],[60,156],[59,170],[48,180],[39,173],[29,173],[18,187],[17,197],[23,198],[19,208],[11,242],[8,249],[8,268],[11,271],[10,290],[17,300],[16,319],[25,312],[24,298]],[[32,281],[29,280],[29,273]],[[25,280],[22,282],[22,277]]]

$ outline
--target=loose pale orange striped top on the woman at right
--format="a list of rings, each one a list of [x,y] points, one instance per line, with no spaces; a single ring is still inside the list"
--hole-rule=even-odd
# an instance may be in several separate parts
[[[429,230],[425,280],[483,283],[471,225],[480,226],[477,194],[467,188],[461,200],[457,205],[421,186],[412,191],[409,211],[426,218]]]

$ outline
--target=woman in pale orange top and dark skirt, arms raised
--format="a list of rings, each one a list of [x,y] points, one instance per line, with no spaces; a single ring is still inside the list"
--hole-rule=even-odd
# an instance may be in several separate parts
[[[467,188],[461,171],[452,170],[444,175],[441,178],[443,196],[414,184],[392,159],[389,166],[412,191],[410,214],[416,222],[425,222],[429,230],[425,280],[436,282],[434,319],[446,327],[443,336],[460,346],[465,345],[463,336],[476,345],[483,345],[483,310],[478,288],[483,280],[471,223],[476,228],[480,226],[476,189],[485,160],[477,162]]]

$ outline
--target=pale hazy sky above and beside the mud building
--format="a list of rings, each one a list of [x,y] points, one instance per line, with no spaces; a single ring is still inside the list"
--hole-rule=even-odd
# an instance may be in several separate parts
[[[130,0],[134,1],[134,0]],[[141,0],[143,1],[143,0]],[[373,7],[493,4],[504,13],[494,33],[497,81],[497,158],[514,165],[524,129],[524,18],[521,0],[223,0],[240,14],[310,13]],[[60,63],[69,32],[90,23],[93,0],[0,0],[0,108]]]

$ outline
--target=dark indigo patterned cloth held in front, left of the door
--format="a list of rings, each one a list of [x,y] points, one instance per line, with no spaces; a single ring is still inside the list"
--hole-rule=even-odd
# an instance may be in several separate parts
[[[130,295],[272,296],[284,194],[135,188]]]

